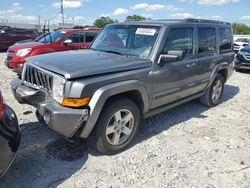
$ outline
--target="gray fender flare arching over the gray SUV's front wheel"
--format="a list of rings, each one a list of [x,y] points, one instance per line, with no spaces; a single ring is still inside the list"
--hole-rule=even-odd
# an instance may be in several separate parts
[[[96,90],[93,97],[91,98],[91,101],[89,103],[89,117],[83,127],[80,137],[87,138],[89,136],[89,134],[96,125],[96,122],[104,107],[105,102],[109,97],[134,90],[138,91],[141,94],[144,103],[144,108],[142,110],[143,113],[146,113],[149,109],[149,97],[148,92],[141,81],[129,80],[103,86]]]

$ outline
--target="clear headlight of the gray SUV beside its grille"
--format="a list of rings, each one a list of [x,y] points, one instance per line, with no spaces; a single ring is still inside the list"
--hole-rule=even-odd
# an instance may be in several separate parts
[[[63,91],[64,91],[65,80],[59,76],[53,77],[53,88],[52,88],[52,96],[60,104],[63,101]]]

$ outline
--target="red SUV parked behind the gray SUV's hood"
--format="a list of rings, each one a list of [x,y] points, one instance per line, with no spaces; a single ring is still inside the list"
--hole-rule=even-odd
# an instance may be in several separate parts
[[[9,47],[5,65],[20,73],[25,58],[51,52],[86,49],[99,29],[64,29],[47,34],[37,42],[28,42]]]

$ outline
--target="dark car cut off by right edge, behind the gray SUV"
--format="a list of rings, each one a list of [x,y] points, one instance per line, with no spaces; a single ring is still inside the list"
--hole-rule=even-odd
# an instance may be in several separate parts
[[[241,48],[235,56],[235,70],[250,69],[250,46]]]

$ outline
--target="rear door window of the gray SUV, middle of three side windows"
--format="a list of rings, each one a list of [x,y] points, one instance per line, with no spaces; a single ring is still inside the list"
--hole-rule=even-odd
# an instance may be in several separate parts
[[[199,53],[216,51],[216,35],[215,28],[199,28],[198,29]]]

